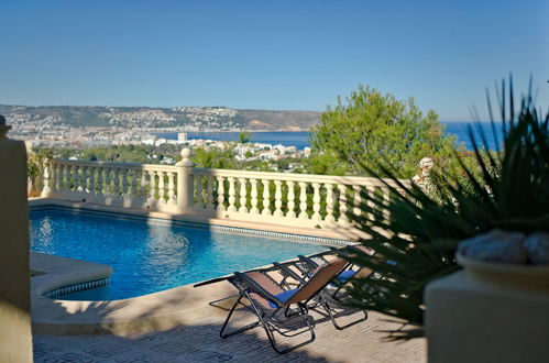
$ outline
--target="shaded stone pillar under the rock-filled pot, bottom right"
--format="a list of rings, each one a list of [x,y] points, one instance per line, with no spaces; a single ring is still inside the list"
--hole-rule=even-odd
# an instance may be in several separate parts
[[[549,362],[547,290],[460,271],[429,284],[425,300],[429,363]]]

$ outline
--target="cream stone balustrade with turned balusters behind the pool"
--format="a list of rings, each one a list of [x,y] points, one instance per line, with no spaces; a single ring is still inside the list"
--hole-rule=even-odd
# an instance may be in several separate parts
[[[348,226],[364,194],[391,198],[376,178],[196,168],[190,150],[182,156],[175,166],[54,160],[42,196],[300,228]]]

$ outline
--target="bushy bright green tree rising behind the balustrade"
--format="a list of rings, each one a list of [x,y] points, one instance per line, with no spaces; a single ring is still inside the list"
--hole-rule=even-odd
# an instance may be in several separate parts
[[[397,170],[397,177],[410,178],[422,157],[443,166],[453,153],[455,139],[444,136],[438,116],[433,111],[424,116],[411,98],[398,101],[361,86],[347,101],[339,99],[311,131],[310,164],[319,174],[378,174],[383,163]]]

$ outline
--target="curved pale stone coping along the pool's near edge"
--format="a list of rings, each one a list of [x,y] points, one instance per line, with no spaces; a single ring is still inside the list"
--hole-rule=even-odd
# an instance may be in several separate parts
[[[184,285],[120,300],[62,300],[46,294],[64,286],[108,278],[112,268],[31,252],[31,271],[32,329],[39,334],[132,336],[167,330],[196,319],[226,315],[226,310],[208,302],[235,293],[229,283],[219,282],[200,288]]]

